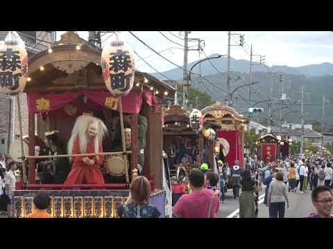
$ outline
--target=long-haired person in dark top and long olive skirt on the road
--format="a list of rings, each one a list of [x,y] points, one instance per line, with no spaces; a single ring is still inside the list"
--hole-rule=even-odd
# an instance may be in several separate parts
[[[255,181],[250,170],[244,170],[241,179],[241,196],[239,197],[239,218],[255,218]]]

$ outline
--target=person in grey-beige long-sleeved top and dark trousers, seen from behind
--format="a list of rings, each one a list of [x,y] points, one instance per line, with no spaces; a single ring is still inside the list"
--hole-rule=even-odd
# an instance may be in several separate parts
[[[270,218],[284,218],[285,206],[289,208],[287,186],[283,183],[282,172],[276,173],[276,179],[268,189],[268,207]]]

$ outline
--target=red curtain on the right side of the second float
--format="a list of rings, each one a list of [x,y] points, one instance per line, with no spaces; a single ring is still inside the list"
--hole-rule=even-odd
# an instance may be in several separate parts
[[[217,131],[218,138],[224,138],[228,141],[230,145],[230,150],[225,160],[228,165],[232,167],[234,165],[234,160],[239,160],[239,165],[243,164],[243,155],[241,152],[241,134],[239,131]]]

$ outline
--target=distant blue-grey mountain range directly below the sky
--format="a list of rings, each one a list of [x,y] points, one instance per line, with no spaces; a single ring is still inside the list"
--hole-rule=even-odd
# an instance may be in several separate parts
[[[209,57],[216,57],[217,54],[212,54]],[[210,59],[200,64],[197,64],[192,73],[198,73],[200,75],[213,75],[219,72],[227,71],[227,57],[220,57],[218,59]],[[198,61],[196,61],[198,62]],[[196,62],[191,62],[188,65],[190,68],[196,64]],[[266,66],[260,65],[258,62],[253,62],[256,64],[253,66],[253,72],[267,72]],[[239,73],[248,73],[250,71],[250,61],[246,59],[234,59],[230,58],[230,71],[239,72]],[[307,76],[324,76],[324,75],[333,75],[333,64],[325,62],[322,64],[312,64],[306,66],[271,66],[271,71],[275,73],[284,73],[289,75],[305,75]],[[172,68],[168,71],[161,72],[163,75],[166,75],[172,80],[179,80],[182,78],[182,69],[181,68]],[[166,80],[158,73],[153,73],[155,77],[160,78],[161,80]]]

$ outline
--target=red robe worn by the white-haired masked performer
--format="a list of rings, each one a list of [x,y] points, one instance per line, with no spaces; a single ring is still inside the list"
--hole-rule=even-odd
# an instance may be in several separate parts
[[[94,142],[87,143],[86,154],[94,153]],[[103,147],[99,145],[99,152],[103,152]],[[78,138],[76,138],[71,154],[81,154]],[[94,160],[94,165],[87,165],[83,162],[85,157],[75,157],[71,172],[67,176],[65,184],[104,184],[104,178],[101,174],[100,167],[103,164],[103,156],[91,156],[89,159]]]

